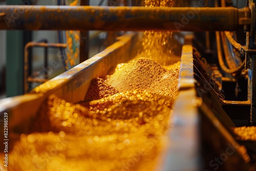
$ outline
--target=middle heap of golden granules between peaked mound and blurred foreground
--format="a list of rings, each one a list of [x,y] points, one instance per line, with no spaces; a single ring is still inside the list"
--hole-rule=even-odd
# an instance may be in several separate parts
[[[89,110],[51,95],[47,105],[42,106],[46,110],[40,110],[33,120],[31,130],[65,131],[78,136],[136,132],[159,113],[162,119],[169,116],[173,101],[173,98],[146,91],[130,91],[91,101]]]

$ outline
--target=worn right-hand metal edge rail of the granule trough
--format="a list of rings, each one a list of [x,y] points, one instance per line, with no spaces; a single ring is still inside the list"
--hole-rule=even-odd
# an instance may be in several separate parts
[[[182,47],[179,74],[179,95],[174,103],[168,139],[169,143],[156,170],[200,170],[199,115],[197,106],[202,99],[196,97],[193,74],[193,48]]]

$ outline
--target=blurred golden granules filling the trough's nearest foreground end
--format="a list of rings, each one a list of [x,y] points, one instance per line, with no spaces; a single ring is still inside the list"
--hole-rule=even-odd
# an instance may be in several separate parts
[[[146,165],[147,158],[154,159],[158,153],[154,144],[158,144],[158,137],[147,138],[143,134],[61,134],[22,134],[9,154],[8,170],[122,170],[129,166],[134,169],[137,163]],[[30,142],[30,137],[34,142]]]

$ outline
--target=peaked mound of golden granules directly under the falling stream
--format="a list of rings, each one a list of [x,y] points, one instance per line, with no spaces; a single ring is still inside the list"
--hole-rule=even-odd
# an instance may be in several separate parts
[[[117,92],[141,90],[177,98],[180,62],[162,67],[148,58],[118,65],[112,75],[94,78],[85,100],[108,97]]]

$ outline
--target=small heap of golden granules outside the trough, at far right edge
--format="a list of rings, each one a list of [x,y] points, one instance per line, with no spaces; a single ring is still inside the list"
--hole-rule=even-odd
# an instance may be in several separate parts
[[[234,127],[233,132],[238,136],[239,140],[256,141],[256,126]]]

